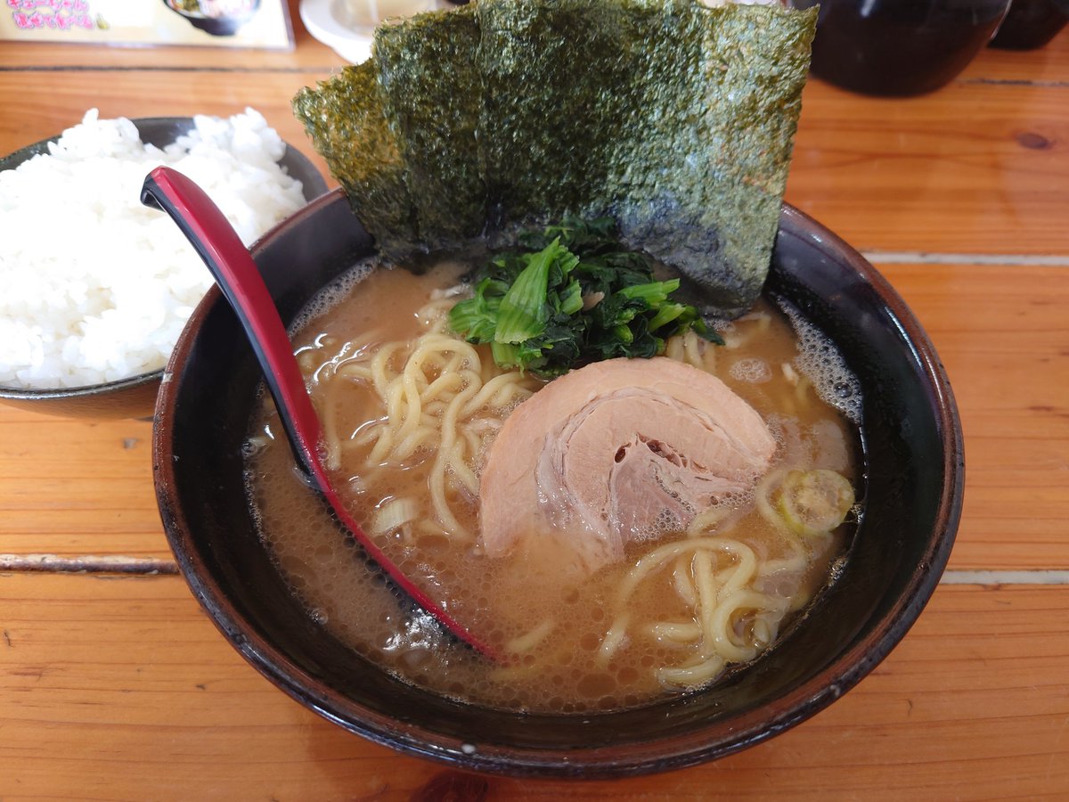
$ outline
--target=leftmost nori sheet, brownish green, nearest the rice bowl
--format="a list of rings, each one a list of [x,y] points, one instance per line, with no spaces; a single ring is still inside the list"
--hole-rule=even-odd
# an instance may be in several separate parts
[[[346,66],[314,90],[301,89],[293,112],[379,248],[413,248],[419,235],[408,168],[386,118],[375,64]]]

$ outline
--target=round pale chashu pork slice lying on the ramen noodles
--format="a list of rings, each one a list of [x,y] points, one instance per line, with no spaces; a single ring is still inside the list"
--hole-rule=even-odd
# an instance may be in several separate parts
[[[562,568],[592,572],[628,542],[683,529],[748,491],[775,450],[761,416],[702,370],[664,357],[594,363],[505,421],[480,479],[482,545],[500,556],[521,539],[552,542]]]

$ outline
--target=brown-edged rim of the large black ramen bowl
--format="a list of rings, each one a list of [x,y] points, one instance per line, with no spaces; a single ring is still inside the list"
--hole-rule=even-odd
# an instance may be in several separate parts
[[[323,196],[286,221],[297,226],[330,203],[344,202],[341,190]],[[786,229],[786,231],[785,231]],[[925,543],[923,559],[914,567],[894,602],[866,627],[863,636],[831,660],[808,680],[776,698],[776,713],[758,706],[731,718],[729,732],[711,736],[695,729],[656,741],[635,741],[577,750],[547,750],[479,742],[470,753],[464,741],[429,729],[416,722],[399,722],[351,698],[331,693],[324,682],[296,665],[263,638],[228,598],[210,572],[195,559],[196,544],[183,510],[171,495],[174,466],[169,453],[169,408],[173,410],[177,383],[165,383],[157,399],[153,450],[155,484],[168,541],[190,590],[230,644],[261,674],[289,696],[342,728],[403,753],[449,764],[455,768],[511,776],[613,778],[669,771],[718,759],[761,743],[820,712],[867,676],[904,637],[939,584],[954,545],[964,493],[963,437],[949,379],[927,334],[890,283],[854,248],[821,223],[784,203],[780,231],[806,241],[825,256],[835,255],[851,272],[872,286],[912,344],[916,364],[934,392],[934,425],[942,444],[943,484],[935,518]],[[266,237],[253,247],[255,255]],[[204,297],[189,319],[175,348],[170,371],[185,358],[208,309],[223,303],[217,288]],[[477,706],[478,707],[478,706]],[[489,709],[489,708],[487,708]],[[593,718],[587,714],[580,718]],[[606,713],[611,715],[611,713]],[[575,714],[560,714],[576,719]],[[472,734],[477,739],[477,734]]]

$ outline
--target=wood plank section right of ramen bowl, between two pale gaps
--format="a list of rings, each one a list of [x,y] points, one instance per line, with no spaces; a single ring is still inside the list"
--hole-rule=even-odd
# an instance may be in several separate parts
[[[1069,568],[1069,267],[880,269],[926,327],[961,413],[950,567]]]

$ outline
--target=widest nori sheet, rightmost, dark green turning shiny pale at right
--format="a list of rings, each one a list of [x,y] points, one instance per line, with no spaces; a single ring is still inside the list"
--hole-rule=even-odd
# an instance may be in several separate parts
[[[768,273],[815,15],[690,0],[482,0],[477,13],[494,221],[610,213],[721,313],[748,309]]]

